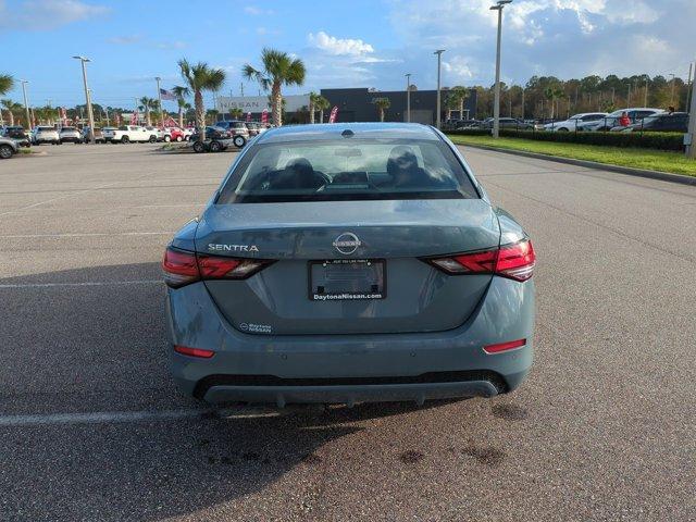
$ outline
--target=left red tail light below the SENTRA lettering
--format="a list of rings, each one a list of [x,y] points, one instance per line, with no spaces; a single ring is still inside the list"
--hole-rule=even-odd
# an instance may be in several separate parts
[[[201,279],[244,279],[273,261],[236,259],[221,256],[197,256],[175,248],[164,251],[164,283],[178,288]]]

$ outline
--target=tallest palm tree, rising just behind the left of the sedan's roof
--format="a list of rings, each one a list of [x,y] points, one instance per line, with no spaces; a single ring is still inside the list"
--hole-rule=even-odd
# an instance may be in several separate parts
[[[261,63],[263,70],[257,70],[250,64],[246,64],[241,74],[247,79],[259,82],[263,90],[271,88],[271,100],[273,107],[273,124],[283,124],[283,92],[284,85],[302,85],[304,83],[304,63],[298,59],[293,59],[287,52],[264,48],[261,51]]]

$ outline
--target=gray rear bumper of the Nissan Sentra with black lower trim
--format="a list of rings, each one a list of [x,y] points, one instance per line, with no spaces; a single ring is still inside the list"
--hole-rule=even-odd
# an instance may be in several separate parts
[[[515,389],[533,359],[534,284],[494,277],[460,327],[423,334],[252,335],[220,314],[201,283],[167,289],[170,348],[182,391],[209,402],[378,402],[492,397]],[[483,346],[525,338],[486,353]]]

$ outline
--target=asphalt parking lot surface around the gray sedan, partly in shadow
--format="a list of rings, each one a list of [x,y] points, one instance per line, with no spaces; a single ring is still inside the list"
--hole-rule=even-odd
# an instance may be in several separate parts
[[[463,149],[538,256],[522,388],[217,414],[159,262],[234,153],[157,148],[0,162],[0,520],[696,520],[696,188]]]

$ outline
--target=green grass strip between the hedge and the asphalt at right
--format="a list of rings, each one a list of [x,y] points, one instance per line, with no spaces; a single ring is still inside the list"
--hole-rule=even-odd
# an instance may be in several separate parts
[[[560,156],[575,160],[597,161],[612,165],[696,176],[696,161],[686,159],[680,152],[536,141],[522,138],[493,139],[490,136],[449,136],[449,138],[458,145],[484,145],[499,149],[524,150],[539,154]]]

